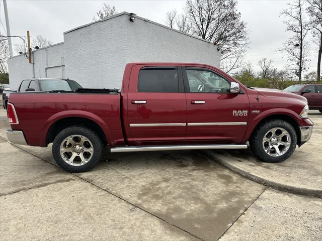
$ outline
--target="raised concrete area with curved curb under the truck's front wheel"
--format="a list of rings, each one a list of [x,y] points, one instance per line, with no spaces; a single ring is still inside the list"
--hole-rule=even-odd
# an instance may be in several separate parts
[[[230,170],[275,189],[322,196],[322,114],[310,110],[311,139],[281,163],[258,160],[251,150],[205,151]]]

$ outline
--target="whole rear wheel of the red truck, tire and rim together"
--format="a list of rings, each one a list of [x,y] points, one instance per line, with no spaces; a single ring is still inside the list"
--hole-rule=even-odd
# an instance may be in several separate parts
[[[91,129],[72,126],[62,130],[54,139],[52,154],[56,163],[68,172],[86,172],[101,158],[103,144]]]

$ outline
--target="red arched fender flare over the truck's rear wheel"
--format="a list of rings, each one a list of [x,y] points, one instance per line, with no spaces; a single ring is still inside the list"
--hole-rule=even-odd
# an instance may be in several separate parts
[[[111,131],[108,128],[108,126],[106,125],[106,123],[103,121],[102,118],[100,118],[96,114],[93,114],[91,112],[84,111],[84,110],[65,110],[65,111],[60,111],[58,113],[53,114],[44,123],[41,134],[40,134],[40,143],[39,143],[40,147],[46,147],[46,138],[47,138],[49,128],[55,122],[59,121],[62,118],[66,118],[66,117],[83,117],[83,118],[90,119],[91,121],[95,122],[96,124],[98,124],[100,126],[100,128],[103,130],[103,132],[105,134],[105,137],[106,137],[108,143],[112,144]]]

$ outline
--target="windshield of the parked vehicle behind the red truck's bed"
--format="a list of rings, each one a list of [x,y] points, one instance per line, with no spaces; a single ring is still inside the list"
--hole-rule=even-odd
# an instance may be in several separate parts
[[[65,90],[74,91],[76,89],[82,88],[76,81],[64,80],[64,79],[48,79],[41,80],[40,85],[43,91],[51,90]]]

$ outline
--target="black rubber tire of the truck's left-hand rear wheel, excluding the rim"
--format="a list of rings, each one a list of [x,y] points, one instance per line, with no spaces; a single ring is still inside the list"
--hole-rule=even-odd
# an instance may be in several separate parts
[[[69,136],[81,135],[86,137],[93,145],[93,156],[81,166],[73,166],[68,164],[60,155],[60,145]],[[83,126],[71,126],[62,130],[54,139],[52,145],[52,155],[59,167],[67,172],[86,172],[91,170],[99,161],[102,155],[103,143],[99,136],[91,129]]]

